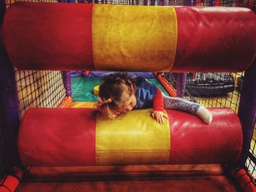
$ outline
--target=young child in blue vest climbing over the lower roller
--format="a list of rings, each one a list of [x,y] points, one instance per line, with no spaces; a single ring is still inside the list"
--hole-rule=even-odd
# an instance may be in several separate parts
[[[164,109],[182,110],[197,115],[206,124],[212,120],[206,107],[186,99],[162,96],[162,91],[143,77],[130,77],[127,73],[110,74],[99,85],[97,109],[108,118],[116,118],[132,109],[153,107],[151,117],[164,123]]]

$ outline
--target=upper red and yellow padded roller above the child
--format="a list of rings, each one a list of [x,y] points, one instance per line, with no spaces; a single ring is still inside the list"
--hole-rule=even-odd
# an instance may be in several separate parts
[[[255,31],[241,7],[19,2],[1,37],[19,69],[236,72],[255,57]]]

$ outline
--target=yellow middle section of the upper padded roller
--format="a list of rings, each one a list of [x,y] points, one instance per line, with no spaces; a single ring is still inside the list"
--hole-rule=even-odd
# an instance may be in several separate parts
[[[173,7],[94,4],[94,67],[170,72],[176,55],[177,33]]]

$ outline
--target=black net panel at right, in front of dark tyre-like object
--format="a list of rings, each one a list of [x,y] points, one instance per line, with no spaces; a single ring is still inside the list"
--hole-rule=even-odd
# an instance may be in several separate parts
[[[185,98],[206,107],[230,107],[237,113],[243,74],[187,74]]]

